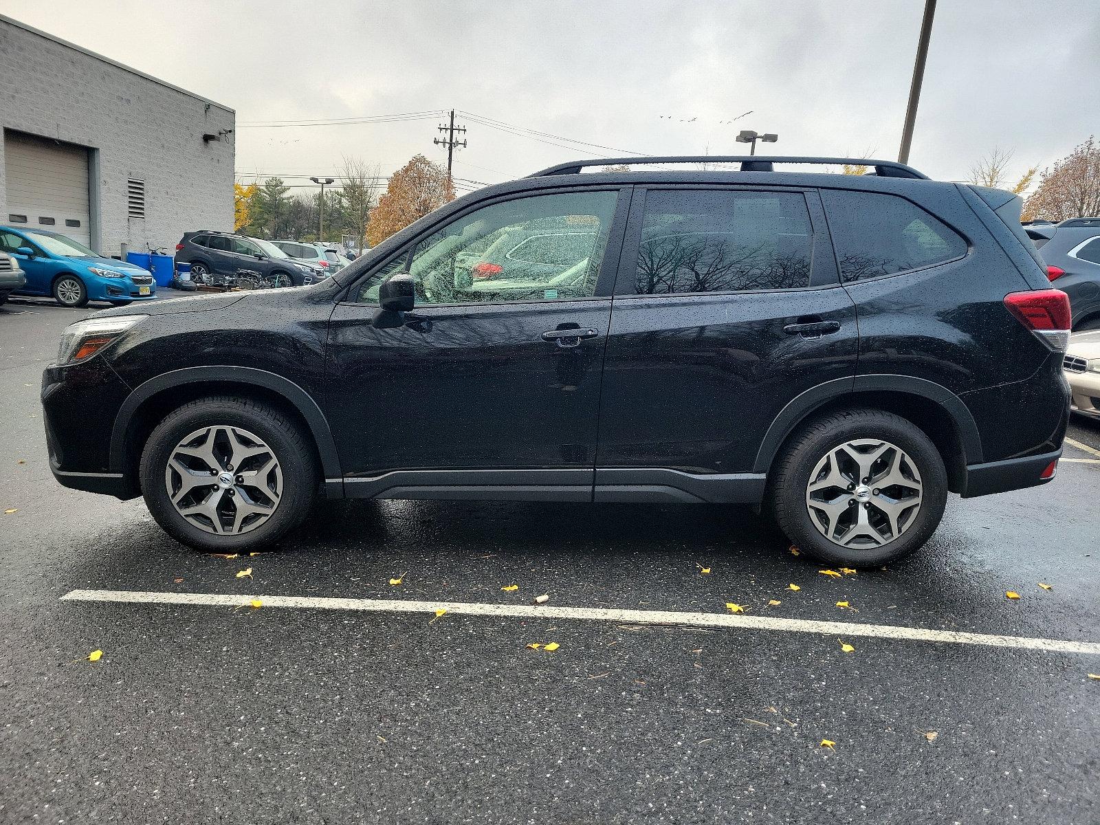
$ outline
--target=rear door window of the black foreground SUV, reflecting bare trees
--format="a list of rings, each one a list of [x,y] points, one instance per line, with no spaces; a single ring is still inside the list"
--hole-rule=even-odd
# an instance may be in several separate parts
[[[812,250],[801,193],[651,190],[632,292],[796,289],[810,285]]]

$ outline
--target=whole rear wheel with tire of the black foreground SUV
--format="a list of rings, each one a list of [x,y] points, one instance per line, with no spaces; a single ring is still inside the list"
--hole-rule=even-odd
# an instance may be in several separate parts
[[[917,550],[935,531],[947,471],[935,444],[901,416],[848,410],[791,439],[770,496],[780,527],[811,556],[877,566]]]

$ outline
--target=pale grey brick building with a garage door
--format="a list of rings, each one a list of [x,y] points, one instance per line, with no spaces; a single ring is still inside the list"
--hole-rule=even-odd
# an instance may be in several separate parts
[[[233,229],[235,114],[0,14],[0,224],[102,255]]]

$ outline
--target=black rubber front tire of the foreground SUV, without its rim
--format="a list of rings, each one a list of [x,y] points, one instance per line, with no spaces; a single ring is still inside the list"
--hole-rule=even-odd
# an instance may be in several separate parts
[[[168,459],[182,439],[204,427],[237,427],[252,432],[277,460],[282,496],[274,513],[258,527],[235,535],[215,535],[196,527],[172,503],[165,481]],[[140,477],[145,504],[165,532],[197,550],[231,553],[271,544],[297,527],[309,515],[319,485],[312,446],[297,424],[265,404],[229,396],[200,398],[169,414],[145,442]]]

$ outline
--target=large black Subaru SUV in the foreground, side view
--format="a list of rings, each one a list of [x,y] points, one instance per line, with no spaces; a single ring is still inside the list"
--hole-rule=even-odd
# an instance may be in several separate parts
[[[921,547],[948,492],[1054,475],[1069,306],[1019,198],[881,161],[584,165],[619,163],[645,168],[480,189],[304,289],[74,323],[43,376],[54,474],[207,550],[318,494],[715,502],[857,566]]]

